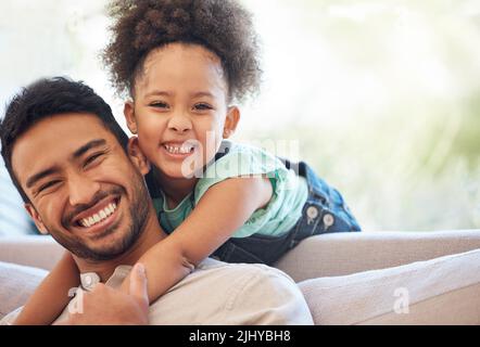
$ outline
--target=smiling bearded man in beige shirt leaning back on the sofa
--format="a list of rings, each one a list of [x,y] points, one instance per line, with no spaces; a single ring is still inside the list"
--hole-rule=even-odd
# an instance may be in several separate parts
[[[312,323],[294,282],[261,265],[205,259],[149,308],[141,265],[129,295],[115,290],[167,235],[149,198],[142,177],[149,165],[136,139],[127,139],[89,87],[53,78],[25,88],[7,108],[1,140],[5,166],[37,228],[73,254],[81,273],[86,293],[78,292],[56,323]],[[83,228],[93,215],[102,220]]]

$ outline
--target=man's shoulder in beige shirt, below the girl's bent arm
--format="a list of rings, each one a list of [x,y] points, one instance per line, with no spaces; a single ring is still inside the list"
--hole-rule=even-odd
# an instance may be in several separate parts
[[[152,324],[312,323],[300,288],[285,272],[260,264],[226,264],[212,258],[150,309]]]

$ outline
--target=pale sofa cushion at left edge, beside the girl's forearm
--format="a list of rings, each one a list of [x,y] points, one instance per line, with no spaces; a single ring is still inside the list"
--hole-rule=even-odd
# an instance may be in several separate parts
[[[23,306],[48,271],[0,261],[0,319]]]

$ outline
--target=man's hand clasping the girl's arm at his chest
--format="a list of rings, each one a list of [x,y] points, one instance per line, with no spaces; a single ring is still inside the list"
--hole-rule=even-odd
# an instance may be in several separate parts
[[[144,267],[137,264],[130,273],[129,293],[102,283],[93,291],[83,293],[83,313],[70,313],[73,325],[148,325],[149,297]]]

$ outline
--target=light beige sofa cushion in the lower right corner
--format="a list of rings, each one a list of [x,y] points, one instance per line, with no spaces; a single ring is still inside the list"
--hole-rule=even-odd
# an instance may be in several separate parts
[[[299,285],[315,324],[480,324],[480,249]]]

